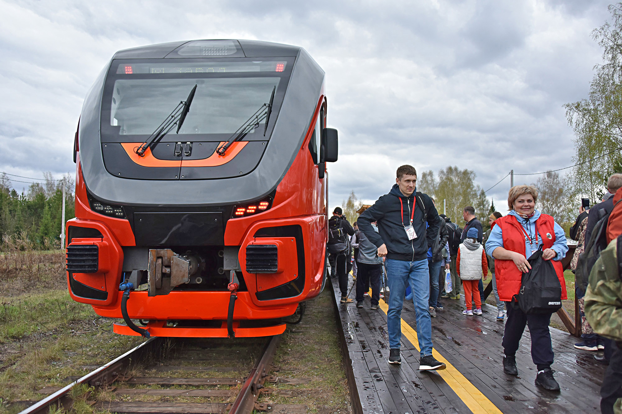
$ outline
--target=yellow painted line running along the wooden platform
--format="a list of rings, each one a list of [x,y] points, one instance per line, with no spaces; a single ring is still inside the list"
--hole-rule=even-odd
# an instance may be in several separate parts
[[[371,297],[371,290],[369,290],[369,296]],[[388,313],[389,306],[384,300],[380,300],[379,306],[384,313]],[[417,351],[420,351],[417,331],[412,329],[412,327],[403,319],[401,319],[401,321],[402,333],[409,341],[411,341],[412,345],[417,348]],[[438,361],[445,363],[447,369],[438,370],[436,372],[443,378],[443,380],[445,380],[445,382],[447,382],[447,385],[449,385],[453,392],[460,397],[469,410],[476,414],[503,414],[501,410],[499,410],[499,408],[491,402],[491,400],[486,398],[486,395],[481,393],[475,385],[471,384],[471,382],[466,379],[466,377],[462,375],[456,367],[450,364],[447,359],[443,358],[443,356],[434,348],[432,349],[432,356],[434,356]]]

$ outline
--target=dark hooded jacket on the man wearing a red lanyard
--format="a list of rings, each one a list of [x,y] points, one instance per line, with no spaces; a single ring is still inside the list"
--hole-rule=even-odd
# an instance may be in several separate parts
[[[417,195],[416,204],[415,194]],[[402,217],[400,217],[400,198],[404,205]],[[415,234],[417,234],[417,238],[413,240],[408,239],[404,230],[404,226],[408,226],[411,220],[411,213],[414,214],[412,226]],[[374,221],[378,222],[378,233],[371,226]],[[429,224],[427,232],[425,221]],[[386,244],[387,259],[412,262],[427,259],[428,246],[434,245],[434,240],[439,234],[441,220],[434,203],[427,194],[414,192],[407,197],[399,191],[399,186],[395,184],[388,194],[381,196],[373,206],[366,209],[356,220],[356,223],[376,247]]]

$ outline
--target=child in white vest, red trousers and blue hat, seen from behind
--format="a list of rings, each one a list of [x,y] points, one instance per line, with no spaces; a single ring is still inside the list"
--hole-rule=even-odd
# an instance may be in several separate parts
[[[468,229],[465,241],[460,243],[456,271],[465,290],[466,310],[462,312],[463,315],[471,316],[473,313],[481,315],[480,291],[477,285],[482,276],[484,280],[488,277],[488,260],[486,260],[484,248],[477,241],[477,229],[475,228]],[[471,310],[472,300],[475,300],[475,310]]]

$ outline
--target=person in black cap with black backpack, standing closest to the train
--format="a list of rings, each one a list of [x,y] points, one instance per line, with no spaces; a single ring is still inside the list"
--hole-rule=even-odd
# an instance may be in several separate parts
[[[350,237],[354,234],[354,229],[348,223],[341,207],[335,207],[333,216],[328,220],[328,253],[329,263],[335,264],[335,272],[339,280],[339,289],[341,290],[341,303],[352,303],[353,300],[348,298],[348,257],[350,255]],[[331,260],[332,259],[332,260]],[[333,272],[331,272],[333,274]]]

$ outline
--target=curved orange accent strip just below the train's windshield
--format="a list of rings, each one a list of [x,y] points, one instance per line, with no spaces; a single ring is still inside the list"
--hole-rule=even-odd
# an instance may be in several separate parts
[[[209,157],[202,160],[160,160],[154,157],[151,153],[151,149],[147,148],[145,151],[144,157],[136,154],[134,149],[140,147],[142,142],[123,142],[121,146],[125,150],[126,154],[128,154],[129,158],[141,165],[142,167],[217,167],[218,165],[223,165],[225,163],[230,162],[239,152],[246,147],[248,141],[238,141],[233,142],[229,147],[228,151],[225,155],[220,155],[216,151],[211,154]],[[225,144],[225,141],[220,142],[220,145]]]

